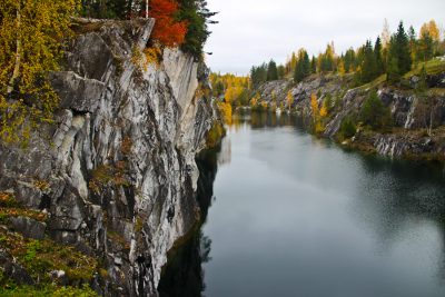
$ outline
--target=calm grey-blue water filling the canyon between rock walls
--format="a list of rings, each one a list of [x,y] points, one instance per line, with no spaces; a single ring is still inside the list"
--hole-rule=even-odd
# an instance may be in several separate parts
[[[162,296],[445,296],[441,167],[348,152],[256,113],[217,160],[206,222]]]

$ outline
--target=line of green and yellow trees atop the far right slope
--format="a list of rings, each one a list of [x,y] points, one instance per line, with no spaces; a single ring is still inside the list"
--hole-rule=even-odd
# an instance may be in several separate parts
[[[251,85],[259,85],[277,79],[293,78],[299,82],[315,73],[354,73],[356,85],[364,85],[382,75],[387,75],[389,82],[397,82],[402,76],[419,62],[445,55],[445,41],[434,20],[422,26],[416,33],[411,26],[405,30],[403,21],[397,31],[389,32],[385,20],[384,30],[376,40],[366,40],[358,49],[349,48],[337,56],[334,42],[326,46],[317,57],[309,57],[306,49],[293,52],[286,63],[277,66],[274,60],[250,69]]]

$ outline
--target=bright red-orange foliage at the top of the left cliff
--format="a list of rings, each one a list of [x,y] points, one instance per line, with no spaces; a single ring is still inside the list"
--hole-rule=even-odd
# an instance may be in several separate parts
[[[174,19],[178,3],[175,0],[151,0],[150,7],[150,17],[156,19],[152,38],[166,47],[182,44],[187,33],[187,22]]]

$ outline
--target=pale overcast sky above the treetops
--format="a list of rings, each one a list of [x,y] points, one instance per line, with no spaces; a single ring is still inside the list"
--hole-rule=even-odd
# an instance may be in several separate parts
[[[334,41],[337,53],[373,40],[385,18],[390,31],[435,19],[445,24],[445,0],[207,0],[219,11],[206,51],[212,71],[246,75],[253,65],[274,59],[283,63],[305,47],[318,55]]]

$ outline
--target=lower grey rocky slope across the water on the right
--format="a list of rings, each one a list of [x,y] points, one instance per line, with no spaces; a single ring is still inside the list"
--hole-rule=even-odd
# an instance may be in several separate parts
[[[286,105],[286,96],[290,91],[294,97],[293,110],[312,119],[310,95],[317,95],[319,106],[329,98],[332,111],[325,120],[324,137],[338,139],[342,121],[360,112],[364,101],[373,89],[377,89],[378,98],[389,107],[393,127],[389,131],[378,132],[357,129],[357,133],[345,145],[362,150],[377,152],[392,158],[414,158],[445,160],[445,72],[427,76],[428,91],[426,99],[416,95],[418,77],[411,77],[405,86],[387,86],[384,81],[375,81],[367,86],[353,88],[352,76],[312,76],[305,81],[294,85],[288,80],[266,82],[258,88],[263,100],[271,102],[276,98],[277,106]],[[274,96],[273,96],[274,93]],[[432,103],[432,112],[421,110],[422,100]],[[429,119],[433,118],[433,132],[426,133]],[[426,125],[426,123],[427,125]]]

